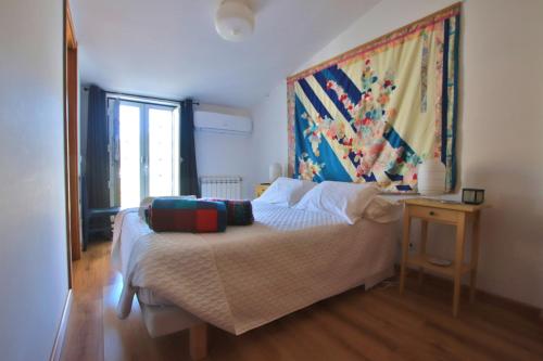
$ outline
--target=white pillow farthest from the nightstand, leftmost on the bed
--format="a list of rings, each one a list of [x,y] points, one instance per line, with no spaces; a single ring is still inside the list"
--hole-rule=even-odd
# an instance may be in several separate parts
[[[315,185],[316,183],[305,180],[279,177],[257,199],[292,207]]]

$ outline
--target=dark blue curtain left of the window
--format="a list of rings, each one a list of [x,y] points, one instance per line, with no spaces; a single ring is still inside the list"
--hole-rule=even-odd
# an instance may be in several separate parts
[[[85,171],[88,208],[105,208],[110,206],[108,141],[105,91],[97,86],[91,86],[89,89]]]

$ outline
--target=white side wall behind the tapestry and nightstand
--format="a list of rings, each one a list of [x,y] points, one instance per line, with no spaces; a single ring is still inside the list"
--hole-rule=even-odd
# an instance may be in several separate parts
[[[292,73],[455,1],[383,0]],[[543,1],[467,0],[460,40],[459,184],[487,190],[479,286],[543,308]],[[281,81],[253,111],[263,166],[287,162]],[[260,162],[260,160],[258,160]],[[262,169],[257,170],[263,176]],[[455,195],[456,197],[458,194]],[[431,234],[452,238],[450,230]],[[452,244],[434,247],[452,257]]]

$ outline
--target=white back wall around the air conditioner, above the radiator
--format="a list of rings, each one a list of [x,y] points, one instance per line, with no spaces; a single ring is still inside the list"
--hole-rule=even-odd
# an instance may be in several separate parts
[[[212,104],[201,104],[198,111],[239,115],[250,117],[247,109],[231,108]],[[198,113],[194,114],[198,116]],[[253,155],[252,136],[224,134],[211,131],[194,132],[198,175],[201,176],[241,176],[242,196],[251,198],[254,193],[252,185]]]

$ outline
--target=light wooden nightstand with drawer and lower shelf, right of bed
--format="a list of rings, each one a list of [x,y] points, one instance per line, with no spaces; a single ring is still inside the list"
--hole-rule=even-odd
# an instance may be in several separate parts
[[[424,271],[432,271],[438,274],[451,276],[454,280],[453,314],[457,317],[460,299],[462,275],[470,273],[470,301],[473,301],[477,281],[477,260],[479,258],[479,218],[480,211],[488,205],[468,205],[458,203],[442,203],[440,201],[416,198],[406,199],[404,211],[404,227],[402,241],[402,270],[400,275],[400,293],[405,288],[406,267],[418,268],[419,283],[422,282]],[[409,234],[412,218],[421,219],[420,247],[418,255],[409,255]],[[472,218],[472,244],[471,259],[464,262],[464,250],[466,241],[466,221]],[[428,238],[428,222],[452,224],[456,227],[456,252],[455,258],[450,266],[437,266],[428,261],[426,243]]]

